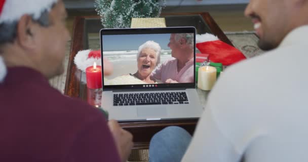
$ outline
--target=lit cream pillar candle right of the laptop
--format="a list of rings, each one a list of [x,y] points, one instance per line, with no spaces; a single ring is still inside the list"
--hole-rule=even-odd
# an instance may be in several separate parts
[[[198,69],[198,88],[209,91],[216,82],[216,68],[212,66],[201,66]]]

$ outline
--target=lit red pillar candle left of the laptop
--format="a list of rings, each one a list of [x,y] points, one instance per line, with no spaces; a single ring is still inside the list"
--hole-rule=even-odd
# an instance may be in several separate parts
[[[90,89],[102,88],[102,67],[96,66],[94,62],[93,66],[87,67],[87,87]]]

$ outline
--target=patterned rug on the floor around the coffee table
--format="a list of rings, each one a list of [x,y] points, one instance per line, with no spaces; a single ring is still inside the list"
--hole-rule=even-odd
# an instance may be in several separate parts
[[[242,51],[242,53],[247,58],[251,58],[263,53],[263,51],[260,50],[257,46],[259,38],[253,32],[225,32],[225,34],[233,43],[233,45],[237,49]],[[92,41],[97,42],[97,38],[90,40],[89,41],[90,45]],[[66,55],[64,60],[64,67],[65,67],[64,73],[60,76],[57,76],[49,80],[50,84],[62,93],[64,93],[70,46],[71,43],[68,42],[66,46]],[[99,49],[99,45],[92,44],[90,48]],[[148,150],[133,150],[129,157],[129,161],[148,161]]]

